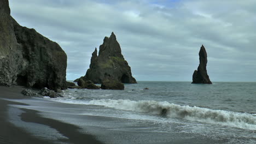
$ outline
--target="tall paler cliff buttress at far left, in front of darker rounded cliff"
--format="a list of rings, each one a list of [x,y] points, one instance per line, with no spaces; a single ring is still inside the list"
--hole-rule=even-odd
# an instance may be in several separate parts
[[[0,1],[0,85],[13,85],[21,65],[21,50],[11,22],[8,0]]]

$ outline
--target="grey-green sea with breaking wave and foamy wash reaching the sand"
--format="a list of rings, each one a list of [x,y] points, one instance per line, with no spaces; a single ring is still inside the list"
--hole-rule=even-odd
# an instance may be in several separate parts
[[[139,81],[124,91],[66,89],[62,95],[24,100],[30,106],[21,107],[108,144],[256,143],[256,82]]]

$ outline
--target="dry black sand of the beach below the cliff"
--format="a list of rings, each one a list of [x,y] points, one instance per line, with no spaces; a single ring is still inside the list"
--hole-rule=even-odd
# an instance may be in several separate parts
[[[38,115],[35,110],[21,109],[23,112],[20,118],[26,123],[37,123],[56,129],[61,135],[68,139],[58,140],[44,140],[37,136],[33,136],[27,130],[16,127],[13,123],[9,122],[9,116],[12,115],[8,111],[8,105],[25,105],[22,103],[15,103],[5,99],[30,99],[24,97],[20,92],[22,87],[2,87],[0,86],[0,143],[102,143],[95,139],[94,136],[83,134],[79,132],[79,128],[72,124],[63,123],[50,118],[44,118]]]

